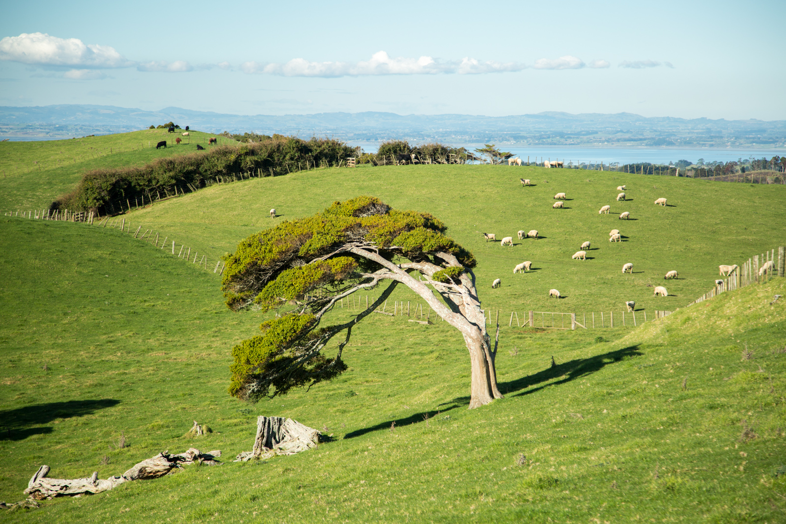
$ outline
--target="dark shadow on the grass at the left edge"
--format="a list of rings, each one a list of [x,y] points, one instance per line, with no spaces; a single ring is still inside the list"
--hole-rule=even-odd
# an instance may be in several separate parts
[[[0,441],[23,440],[34,434],[51,433],[52,427],[40,426],[40,424],[50,423],[55,419],[92,415],[98,409],[111,408],[119,403],[120,401],[114,398],[101,398],[100,400],[47,402],[24,408],[6,409],[0,411]]]

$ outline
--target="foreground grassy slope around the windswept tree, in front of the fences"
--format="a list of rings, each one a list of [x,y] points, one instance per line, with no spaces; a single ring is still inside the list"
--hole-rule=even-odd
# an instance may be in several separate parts
[[[229,349],[262,318],[227,311],[213,273],[81,224],[4,217],[0,246],[0,500],[20,500],[40,464],[105,478],[164,449],[226,460],[8,522],[784,519],[786,304],[769,304],[783,279],[634,330],[503,326],[505,398],[474,410],[457,332],[372,315],[339,379],[249,405],[226,394]],[[257,415],[291,416],[328,442],[232,463]],[[214,432],[184,437],[193,420]]]

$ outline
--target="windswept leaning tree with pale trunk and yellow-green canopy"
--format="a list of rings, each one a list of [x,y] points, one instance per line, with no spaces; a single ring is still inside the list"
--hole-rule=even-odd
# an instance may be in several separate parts
[[[398,284],[420,295],[464,337],[472,365],[470,408],[502,398],[472,268],[475,257],[428,213],[398,211],[371,196],[335,202],[308,218],[248,236],[226,255],[222,288],[232,310],[277,309],[261,335],[232,350],[230,394],[256,401],[311,386],[347,369],[352,328]],[[323,325],[340,299],[386,286],[347,322]],[[329,346],[333,337],[340,342]]]

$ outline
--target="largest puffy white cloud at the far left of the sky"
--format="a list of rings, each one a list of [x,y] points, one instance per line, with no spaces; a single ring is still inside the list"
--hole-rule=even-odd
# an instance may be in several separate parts
[[[57,38],[46,33],[22,33],[2,38],[0,60],[83,68],[126,68],[134,64],[112,47],[86,45],[79,38]]]

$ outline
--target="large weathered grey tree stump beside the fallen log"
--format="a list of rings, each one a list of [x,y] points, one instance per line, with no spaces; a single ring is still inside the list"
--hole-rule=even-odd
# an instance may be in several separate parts
[[[296,420],[281,416],[259,416],[253,451],[237,455],[235,462],[252,458],[268,459],[275,455],[294,455],[319,445],[321,433]]]

